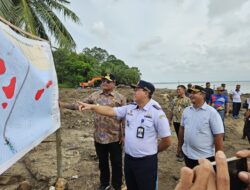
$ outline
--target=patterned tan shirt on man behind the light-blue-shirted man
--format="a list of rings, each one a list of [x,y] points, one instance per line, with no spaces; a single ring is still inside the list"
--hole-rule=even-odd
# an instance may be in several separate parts
[[[191,105],[190,98],[186,96],[175,97],[170,105],[173,113],[173,122],[180,123],[183,110],[190,105]]]

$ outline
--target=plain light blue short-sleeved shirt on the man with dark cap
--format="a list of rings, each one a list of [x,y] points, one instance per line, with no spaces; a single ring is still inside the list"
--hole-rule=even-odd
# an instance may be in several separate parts
[[[201,108],[185,108],[181,127],[184,127],[184,154],[194,160],[215,155],[214,135],[224,133],[218,112],[205,102]]]

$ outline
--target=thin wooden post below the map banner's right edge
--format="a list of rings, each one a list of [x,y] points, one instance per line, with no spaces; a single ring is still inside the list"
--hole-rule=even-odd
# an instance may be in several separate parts
[[[61,128],[56,131],[56,159],[57,159],[57,177],[62,177],[62,138]]]

